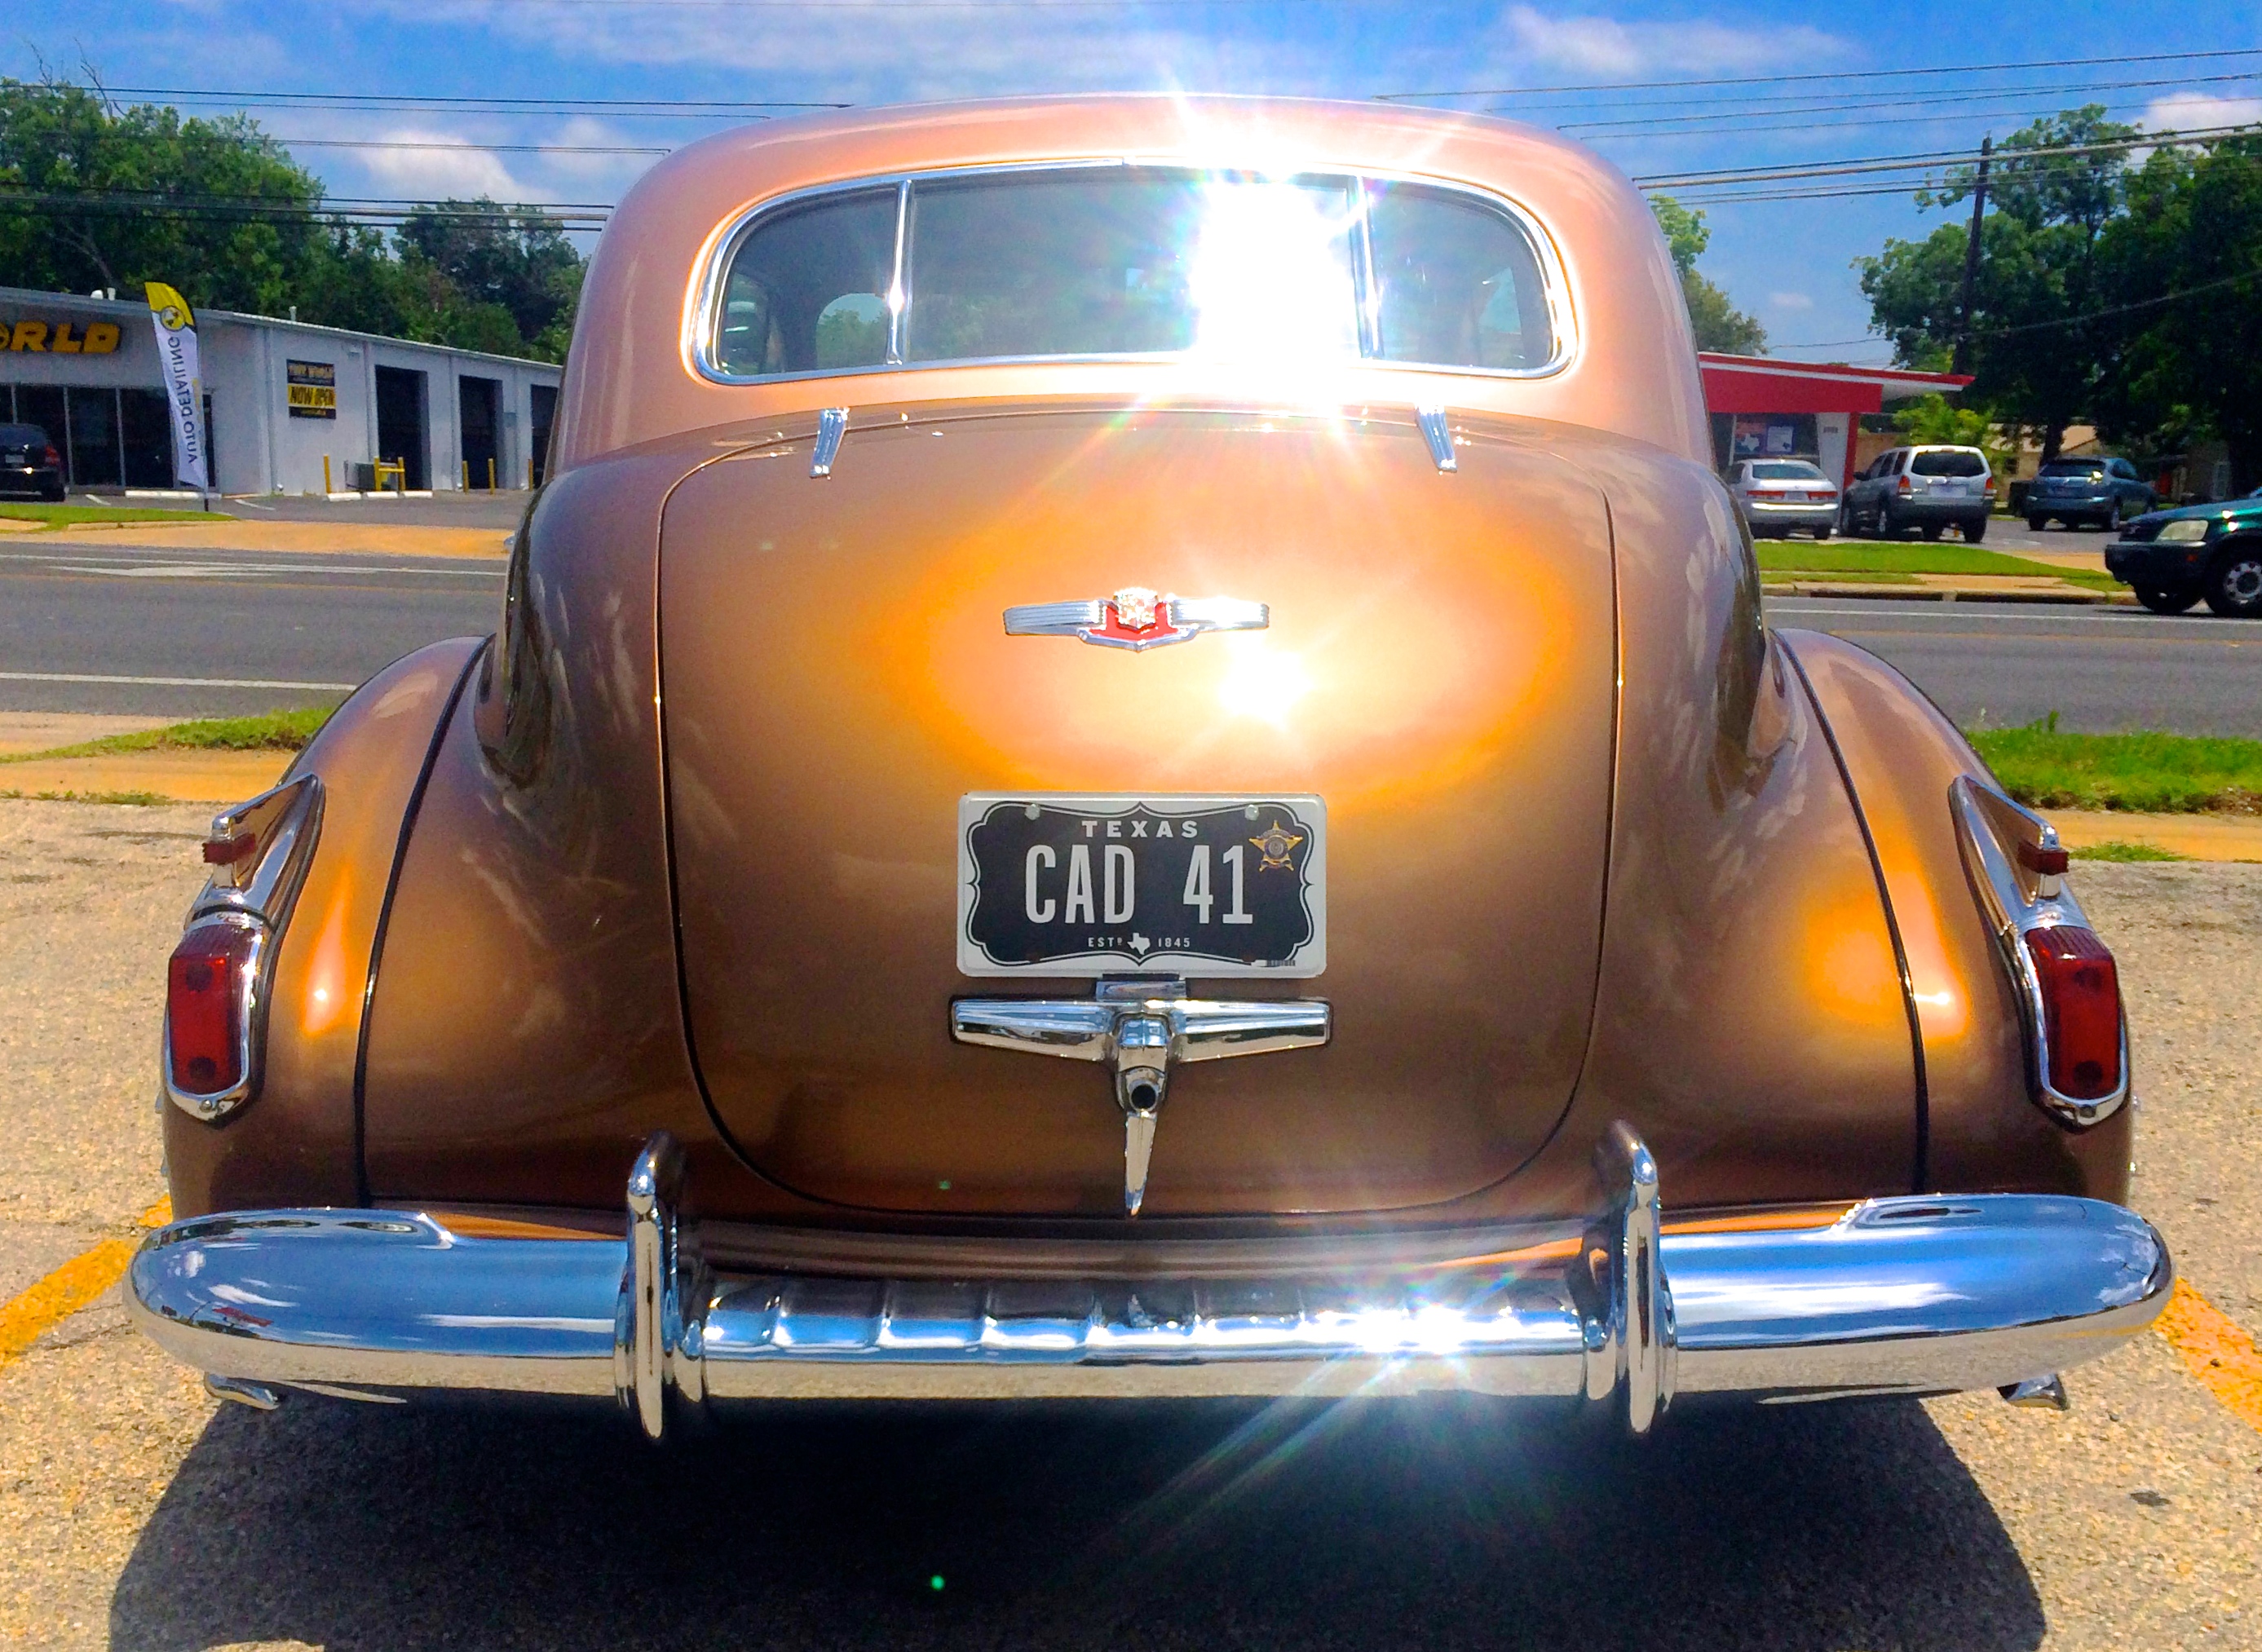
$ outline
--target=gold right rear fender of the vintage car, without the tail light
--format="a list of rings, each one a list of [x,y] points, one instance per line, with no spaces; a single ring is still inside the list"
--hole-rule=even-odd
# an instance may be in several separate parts
[[[1907,677],[1853,643],[1778,631],[1814,690],[1900,928],[1923,1036],[1920,1190],[2074,1193],[2124,1204],[2131,1113],[2058,1125],[2027,1095],[2018,1000],[1963,874],[1948,785],[1995,776]]]

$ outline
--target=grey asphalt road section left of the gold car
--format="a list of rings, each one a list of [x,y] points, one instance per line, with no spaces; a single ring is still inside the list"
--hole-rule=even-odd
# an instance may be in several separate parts
[[[335,704],[409,649],[495,629],[500,606],[489,559],[0,541],[0,711]]]

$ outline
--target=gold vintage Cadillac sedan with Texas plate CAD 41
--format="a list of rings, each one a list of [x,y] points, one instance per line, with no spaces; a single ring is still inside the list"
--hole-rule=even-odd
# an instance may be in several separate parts
[[[500,631],[222,815],[217,1392],[2002,1387],[2158,1315],[2052,828],[1773,631],[1590,152],[1212,97],[697,143]]]

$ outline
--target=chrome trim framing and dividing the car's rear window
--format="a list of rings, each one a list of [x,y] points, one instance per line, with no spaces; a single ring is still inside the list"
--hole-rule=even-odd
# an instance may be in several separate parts
[[[912,310],[914,292],[907,285],[907,276],[916,281],[916,269],[907,267],[907,249],[912,233],[912,186],[923,181],[957,181],[977,177],[1007,177],[1016,172],[1086,172],[1095,167],[1167,167],[1172,172],[1262,172],[1262,167],[1233,167],[1233,165],[1203,165],[1197,161],[1185,161],[1176,156],[1088,156],[1088,158],[1059,158],[1059,161],[1000,161],[979,163],[961,167],[925,167],[916,172],[875,172],[860,179],[835,179],[830,183],[812,183],[801,190],[787,190],[783,195],[771,195],[753,206],[744,208],[737,217],[728,220],[717,235],[708,238],[708,251],[703,253],[706,265],[699,272],[699,281],[692,287],[692,296],[683,310],[683,355],[692,371],[710,385],[792,385],[810,378],[862,378],[869,373],[925,373],[925,371],[955,371],[961,367],[1079,367],[1079,364],[1117,364],[1117,362],[1151,362],[1151,364],[1185,364],[1197,358],[1183,351],[1117,351],[1117,353],[1090,353],[1090,355],[964,355],[943,358],[932,362],[905,362],[905,317]],[[1316,177],[1316,179],[1344,179],[1350,188],[1355,201],[1353,215],[1353,249],[1350,249],[1350,274],[1353,292],[1357,303],[1357,337],[1359,355],[1350,364],[1359,369],[1380,371],[1405,371],[1405,373],[1461,373],[1470,378],[1504,378],[1504,380],[1531,380],[1531,378],[1554,378],[1579,353],[1577,317],[1570,303],[1570,278],[1563,272],[1563,258],[1556,251],[1554,235],[1540,224],[1540,220],[1518,201],[1506,195],[1497,195],[1475,183],[1461,183],[1459,179],[1436,179],[1418,172],[1384,172],[1371,167],[1328,167],[1316,165],[1310,172],[1296,172],[1294,177]],[[1369,186],[1373,183],[1407,183],[1425,190],[1439,190],[1445,195],[1466,195],[1502,215],[1525,235],[1531,244],[1531,260],[1540,272],[1540,296],[1547,306],[1547,328],[1554,337],[1554,355],[1540,367],[1464,367],[1452,362],[1400,362],[1378,355],[1380,346],[1380,315],[1371,315],[1380,306],[1380,290],[1375,287],[1373,274],[1373,242],[1369,233],[1369,210],[1371,197]],[[740,247],[771,213],[785,210],[789,206],[801,206],[805,201],[823,199],[828,195],[851,195],[857,190],[882,190],[893,186],[896,190],[896,265],[893,265],[893,292],[887,296],[889,303],[889,326],[887,326],[887,362],[873,362],[869,367],[819,367],[801,373],[731,373],[717,364],[719,351],[717,342],[722,335],[722,299],[724,285],[731,276],[731,263],[737,258]],[[893,299],[900,294],[900,303]]]

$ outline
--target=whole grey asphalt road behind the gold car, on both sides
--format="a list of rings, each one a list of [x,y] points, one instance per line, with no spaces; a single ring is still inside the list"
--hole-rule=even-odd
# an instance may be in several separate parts
[[[0,541],[0,711],[188,717],[335,702],[423,643],[491,631],[500,600],[502,563],[486,559]],[[2056,711],[2067,729],[2262,733],[2255,622],[1868,597],[1767,609],[1882,654],[1957,722]]]

